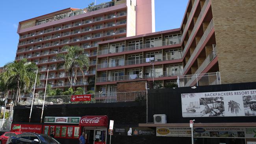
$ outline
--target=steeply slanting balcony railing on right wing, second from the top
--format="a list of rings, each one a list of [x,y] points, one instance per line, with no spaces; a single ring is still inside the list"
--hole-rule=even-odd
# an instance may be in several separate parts
[[[198,28],[198,26],[199,26],[199,22],[201,21],[203,15],[204,15],[204,12],[205,12],[205,10],[206,10],[206,7],[208,6],[209,1],[210,1],[210,0],[206,0],[206,1],[204,2],[204,6],[202,7],[202,10],[201,10],[201,12],[200,12],[200,14],[199,14],[199,16],[198,16],[198,18],[197,18],[197,22],[195,23],[195,26],[194,26],[194,28],[193,28],[193,30],[192,30],[190,36],[189,36],[189,39],[187,40],[187,43],[186,43],[186,45],[185,45],[185,47],[184,47],[184,50],[183,50],[183,52],[182,52],[182,55],[185,55],[185,53],[186,53],[186,51],[187,51],[187,49],[188,49],[188,46],[189,46],[190,42],[192,41],[192,38],[193,38],[193,36],[194,36],[194,34],[195,34],[195,31],[197,30],[197,28]]]

